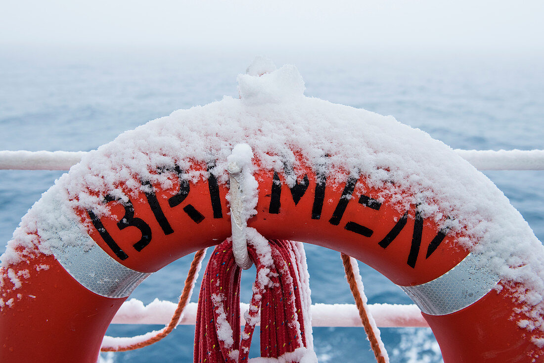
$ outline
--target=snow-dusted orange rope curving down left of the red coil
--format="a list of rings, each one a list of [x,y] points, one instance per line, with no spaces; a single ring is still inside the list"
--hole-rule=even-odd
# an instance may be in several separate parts
[[[101,352],[126,352],[127,350],[147,347],[163,339],[166,335],[170,334],[170,332],[174,330],[174,328],[176,327],[178,321],[180,320],[181,313],[183,312],[183,309],[187,305],[187,300],[189,299],[191,288],[194,286],[194,280],[196,280],[196,272],[197,272],[199,264],[202,262],[205,251],[206,249],[201,249],[196,252],[193,262],[191,262],[191,268],[189,269],[189,274],[187,275],[187,279],[185,280],[185,286],[183,287],[183,292],[180,297],[180,302],[177,303],[176,312],[174,313],[174,316],[172,316],[170,323],[168,323],[166,327],[160,330],[157,333],[157,335],[143,342],[134,343],[124,347],[115,347],[115,348],[103,347],[100,349]]]

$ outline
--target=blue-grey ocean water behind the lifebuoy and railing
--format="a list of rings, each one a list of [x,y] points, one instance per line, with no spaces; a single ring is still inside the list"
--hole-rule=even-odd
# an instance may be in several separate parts
[[[0,54],[0,150],[91,150],[148,120],[236,96],[246,54],[132,52],[13,52]],[[284,54],[306,95],[393,115],[459,149],[544,149],[544,62],[520,55],[431,54],[401,57]],[[544,240],[544,171],[485,173]],[[61,175],[0,170],[0,253],[28,208]],[[339,253],[306,246],[314,303],[351,303]],[[175,301],[192,256],[153,274],[132,297]],[[361,264],[369,303],[411,303],[384,276]],[[254,272],[243,274],[250,298]],[[195,293],[196,294],[196,293]],[[193,301],[195,301],[193,298]],[[109,335],[132,336],[154,325],[112,325]],[[372,361],[360,328],[314,328],[319,360]],[[103,354],[108,362],[191,361],[194,327],[180,326],[152,347]],[[387,328],[392,362],[441,362],[430,329]],[[250,356],[258,355],[258,339]]]

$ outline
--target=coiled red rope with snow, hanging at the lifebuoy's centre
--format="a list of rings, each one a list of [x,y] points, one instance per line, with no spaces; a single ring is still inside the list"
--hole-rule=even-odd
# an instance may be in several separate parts
[[[305,325],[308,304],[305,293],[301,292],[300,253],[296,244],[268,241],[257,248],[248,244],[248,253],[257,274],[241,335],[241,270],[234,262],[230,240],[219,244],[210,257],[196,316],[195,363],[247,361],[259,310],[261,356],[299,361],[305,354],[314,354],[312,347],[305,349],[306,330],[311,325]]]

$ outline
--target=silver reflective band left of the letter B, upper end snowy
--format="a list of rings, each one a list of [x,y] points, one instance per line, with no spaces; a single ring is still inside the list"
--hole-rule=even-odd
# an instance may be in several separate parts
[[[59,261],[79,284],[90,291],[108,298],[124,298],[145,280],[150,273],[143,273],[125,267],[110,257],[85,233],[75,213],[64,204],[57,190],[42,196],[47,199],[47,218],[38,221],[41,242],[51,248]],[[47,223],[55,216],[54,224]]]

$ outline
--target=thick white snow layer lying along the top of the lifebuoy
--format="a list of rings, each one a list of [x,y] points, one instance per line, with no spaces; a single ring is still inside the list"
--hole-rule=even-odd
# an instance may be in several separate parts
[[[234,145],[247,144],[263,169],[282,172],[288,164],[300,174],[298,156],[303,155],[306,165],[327,175],[327,183],[362,175],[369,187],[381,190],[373,198],[401,210],[418,205],[424,218],[448,227],[461,236],[461,245],[484,254],[483,263],[517,289],[514,298],[523,304],[519,319],[544,330],[544,248],[487,177],[427,133],[392,116],[305,97],[296,67],[273,68],[257,62],[250,74],[238,76],[236,97],[177,110],[83,156],[23,217],[2,266],[33,253],[51,254],[51,241],[69,244],[71,232],[62,231],[74,231],[73,208],[105,214],[104,194],[126,200],[128,190],[133,196],[142,189],[140,180],[171,187],[172,177],[156,173],[157,167],[177,164],[189,170],[194,162],[215,161],[209,172],[196,168],[186,177],[199,181],[213,173],[226,183],[227,157]],[[255,76],[262,71],[268,73]],[[48,236],[59,233],[60,238]]]

